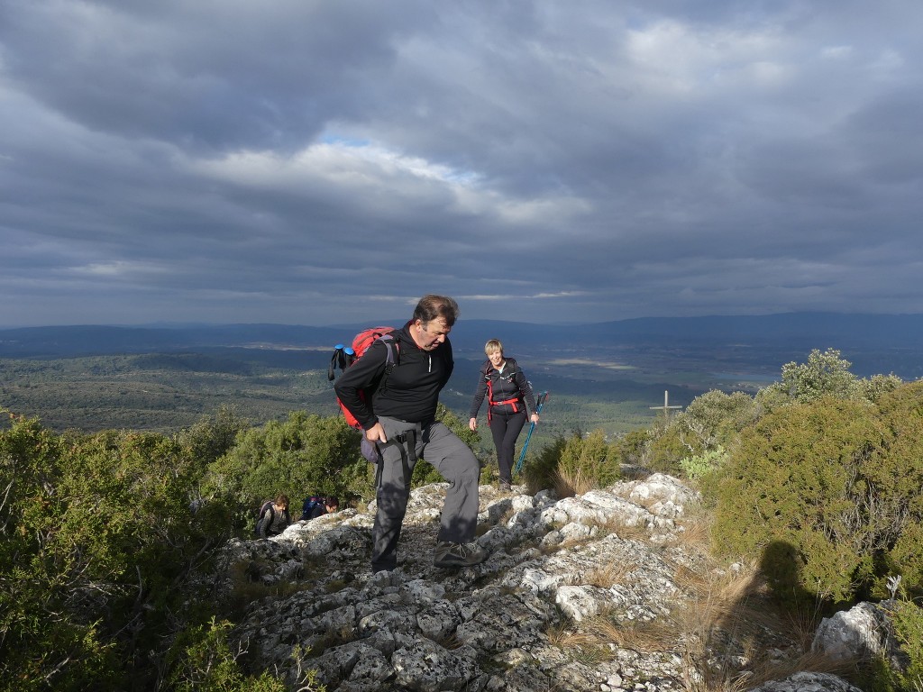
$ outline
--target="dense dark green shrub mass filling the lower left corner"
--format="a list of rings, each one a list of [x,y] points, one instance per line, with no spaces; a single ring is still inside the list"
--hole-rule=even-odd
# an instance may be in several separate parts
[[[175,439],[0,432],[0,689],[144,689],[174,634],[209,611],[193,584],[231,535],[192,516],[203,466]]]

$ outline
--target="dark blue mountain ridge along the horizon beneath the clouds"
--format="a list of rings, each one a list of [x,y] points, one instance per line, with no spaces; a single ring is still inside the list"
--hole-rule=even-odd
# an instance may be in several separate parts
[[[404,320],[381,320],[399,327]],[[174,352],[197,348],[319,349],[350,340],[369,325],[310,327],[228,324],[178,327],[62,326],[0,329],[0,357],[56,358],[114,353]],[[539,325],[462,320],[452,332],[456,349],[480,350],[498,337],[548,348],[658,342],[701,348],[736,342],[785,343],[793,349],[915,350],[923,356],[923,315],[784,313],[765,316],[641,317],[585,325]]]

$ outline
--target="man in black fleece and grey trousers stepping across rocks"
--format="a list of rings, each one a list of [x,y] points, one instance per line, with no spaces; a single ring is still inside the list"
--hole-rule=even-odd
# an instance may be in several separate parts
[[[426,459],[449,482],[433,564],[467,567],[486,558],[473,543],[480,465],[471,448],[436,420],[439,392],[455,365],[449,332],[458,314],[459,306],[451,298],[424,296],[410,321],[393,332],[398,356],[390,369],[387,346],[377,340],[333,386],[380,454],[373,572],[397,567],[398,540],[417,459]]]

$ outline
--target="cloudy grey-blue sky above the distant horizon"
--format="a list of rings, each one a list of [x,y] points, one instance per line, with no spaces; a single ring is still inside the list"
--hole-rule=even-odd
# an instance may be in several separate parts
[[[919,0],[0,0],[0,327],[923,313]]]

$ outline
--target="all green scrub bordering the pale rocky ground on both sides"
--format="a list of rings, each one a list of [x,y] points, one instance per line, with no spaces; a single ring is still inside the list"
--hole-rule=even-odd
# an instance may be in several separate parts
[[[875,688],[917,689],[923,383],[860,378],[850,365],[814,351],[754,394],[713,389],[617,438],[561,432],[530,447],[524,480],[582,494],[631,464],[696,483],[715,555],[763,567],[793,613],[902,596],[896,636],[910,666],[880,672]],[[439,414],[480,448],[456,413]],[[485,458],[482,480],[492,472]],[[435,478],[421,463],[414,484]],[[219,611],[202,579],[218,546],[251,535],[253,509],[279,492],[294,505],[315,492],[367,502],[358,433],[336,414],[252,424],[230,407],[171,433],[56,432],[7,408],[0,690],[283,689],[246,669],[229,638],[237,614]],[[306,672],[303,689],[317,688]]]

